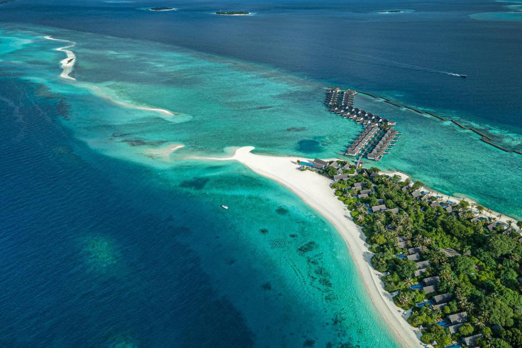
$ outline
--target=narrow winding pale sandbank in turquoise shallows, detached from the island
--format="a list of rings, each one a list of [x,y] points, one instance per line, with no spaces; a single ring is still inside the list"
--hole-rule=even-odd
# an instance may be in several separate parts
[[[60,74],[60,77],[67,79],[67,80],[76,81],[76,79],[74,77],[69,76],[69,74],[73,72],[73,67],[74,67],[74,64],[76,63],[76,55],[74,54],[73,51],[67,50],[67,49],[74,47],[76,45],[76,42],[70,41],[70,40],[55,39],[51,36],[46,36],[46,37],[44,37],[44,39],[69,43],[69,45],[67,45],[67,46],[58,47],[56,49],[56,51],[64,52],[67,55],[67,58],[60,61],[60,63],[62,64],[62,73]],[[100,87],[94,86],[91,83],[80,82],[80,83],[78,83],[78,86],[90,89],[91,91],[96,93],[99,97],[101,97],[105,100],[108,100],[111,103],[114,103],[116,105],[127,107],[128,109],[158,112],[163,115],[169,115],[169,116],[177,115],[170,110],[160,109],[159,107],[139,106],[139,105],[130,104],[125,101],[117,100],[113,97],[110,97],[110,95],[105,93]]]

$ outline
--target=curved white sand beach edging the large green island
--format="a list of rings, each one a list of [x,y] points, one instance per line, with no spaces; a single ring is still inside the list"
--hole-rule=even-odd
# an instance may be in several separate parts
[[[335,226],[348,245],[367,293],[398,342],[405,347],[420,346],[414,328],[402,318],[402,309],[395,306],[392,296],[384,290],[379,272],[371,267],[372,253],[365,246],[364,235],[349,217],[345,205],[335,197],[334,191],[329,187],[329,179],[311,171],[298,171],[296,157],[256,155],[251,153],[253,149],[254,147],[242,147],[236,150],[232,157],[207,158],[207,160],[235,160],[243,163],[254,172],[286,186],[307,205],[323,215]]]

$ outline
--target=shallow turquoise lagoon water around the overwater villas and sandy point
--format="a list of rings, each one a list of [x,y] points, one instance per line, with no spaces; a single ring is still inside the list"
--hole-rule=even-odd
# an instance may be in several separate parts
[[[75,231],[68,247],[78,250],[74,262],[88,265],[85,277],[116,277],[149,291],[139,284],[143,274],[136,265],[151,266],[165,255],[170,260],[164,246],[174,241],[194,255],[216,298],[227,298],[239,311],[257,346],[397,345],[333,227],[295,195],[238,163],[190,159],[246,145],[262,154],[335,157],[360,128],[324,110],[324,83],[226,57],[86,32],[3,25],[0,35],[4,78],[23,81],[35,98],[56,104],[52,116],[60,119],[58,133],[67,143],[54,144],[53,151],[88,163],[114,190],[126,193],[125,201],[112,203],[122,206],[129,223],[139,224],[137,217],[145,215],[154,227],[132,235]],[[76,81],[58,77],[65,54],[55,51],[61,43],[45,35],[77,43]],[[407,172],[443,193],[470,196],[522,217],[521,155],[496,150],[453,124],[357,98],[359,106],[397,121],[404,133],[392,154],[372,165]],[[516,136],[500,131],[497,140],[520,145]],[[169,153],[178,144],[184,148]],[[230,207],[226,213],[223,203]],[[139,206],[139,214],[127,205]],[[160,227],[171,220],[175,229]],[[181,261],[174,258],[162,268],[165,277],[189,281],[176,262]],[[80,293],[88,291],[82,286]],[[171,289],[155,291],[168,296],[165,290]],[[163,325],[184,320],[165,316],[159,320]],[[125,327],[111,327],[102,336],[110,342],[153,343]]]

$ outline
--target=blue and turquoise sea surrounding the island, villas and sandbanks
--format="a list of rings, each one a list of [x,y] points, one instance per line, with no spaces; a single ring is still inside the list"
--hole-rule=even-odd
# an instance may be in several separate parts
[[[331,157],[357,131],[319,115],[321,88],[340,85],[460,117],[522,150],[522,20],[505,6],[0,4],[0,346],[396,346],[345,243],[296,196],[239,164],[157,164],[140,149],[175,141],[194,153],[254,145]],[[211,15],[219,9],[254,15]],[[392,9],[405,13],[381,13]],[[43,35],[78,42],[78,80],[190,115],[170,123],[78,91],[58,78],[65,56],[34,39]],[[259,112],[244,112],[249,102],[276,111],[247,118]],[[396,117],[415,138],[387,165],[415,164],[441,191],[522,215],[522,156],[453,128],[438,142],[431,123]],[[299,249],[311,242],[312,253]]]

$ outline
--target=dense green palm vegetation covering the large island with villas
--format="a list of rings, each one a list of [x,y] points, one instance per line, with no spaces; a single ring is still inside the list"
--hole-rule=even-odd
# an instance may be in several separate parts
[[[332,176],[327,167],[324,175]],[[447,202],[433,208],[436,198],[414,198],[412,191],[423,186],[420,182],[401,181],[399,176],[376,175],[378,169],[364,170],[363,174],[350,176],[335,182],[332,188],[343,201],[353,220],[362,227],[370,250],[373,251],[373,267],[386,272],[382,280],[385,289],[394,294],[397,306],[409,309],[408,322],[422,330],[422,342],[437,342],[445,346],[470,335],[482,334],[475,344],[493,347],[522,346],[522,245],[518,242],[520,230],[514,222],[509,226],[496,226],[492,231],[487,225],[495,217],[484,215],[483,207],[470,206],[462,200],[454,202],[453,212],[444,209]],[[335,173],[337,174],[337,172]],[[368,197],[357,198],[363,189],[370,189]],[[402,189],[406,186],[406,189]],[[386,208],[399,208],[398,213],[375,212],[371,207],[385,204]],[[437,205],[435,203],[435,205]],[[473,221],[471,221],[473,220]],[[517,226],[522,223],[517,222]],[[400,239],[398,238],[400,237]],[[401,245],[402,243],[405,243]],[[415,277],[419,268],[415,261],[399,258],[408,255],[408,248],[418,247],[420,260],[428,260],[425,273]],[[454,249],[448,256],[442,249]],[[426,277],[438,276],[436,291],[425,294],[420,289],[410,289]],[[417,303],[430,300],[438,294],[450,294],[450,301],[433,306]],[[467,321],[451,334],[448,315],[466,312]],[[447,325],[438,325],[447,322]]]

